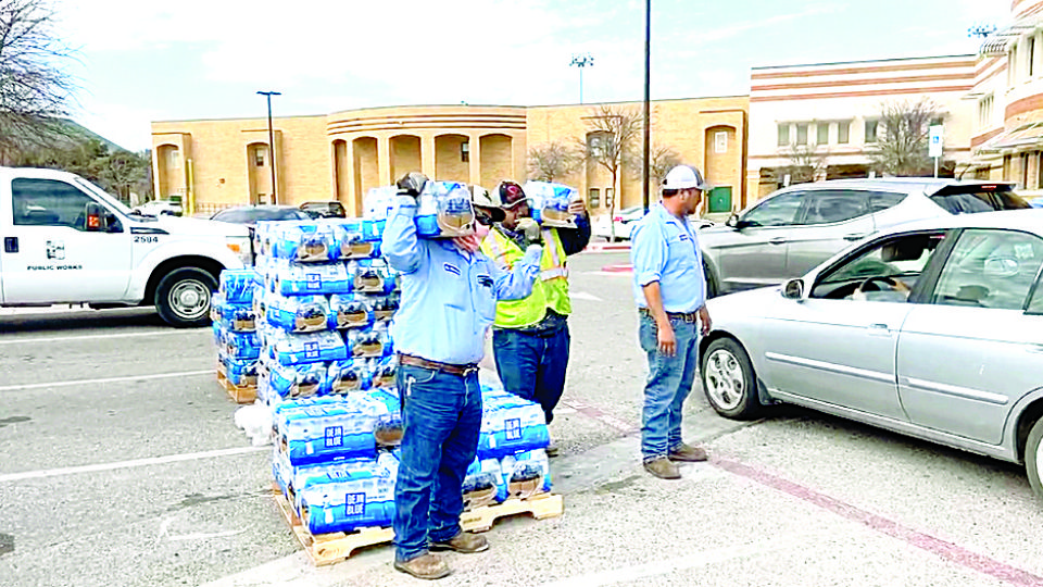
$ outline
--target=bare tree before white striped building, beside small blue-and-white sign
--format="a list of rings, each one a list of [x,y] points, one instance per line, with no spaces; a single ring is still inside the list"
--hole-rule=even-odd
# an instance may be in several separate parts
[[[927,97],[918,101],[881,105],[877,142],[867,151],[872,167],[882,175],[921,176],[933,171],[927,142],[930,126],[941,118],[938,105]]]

